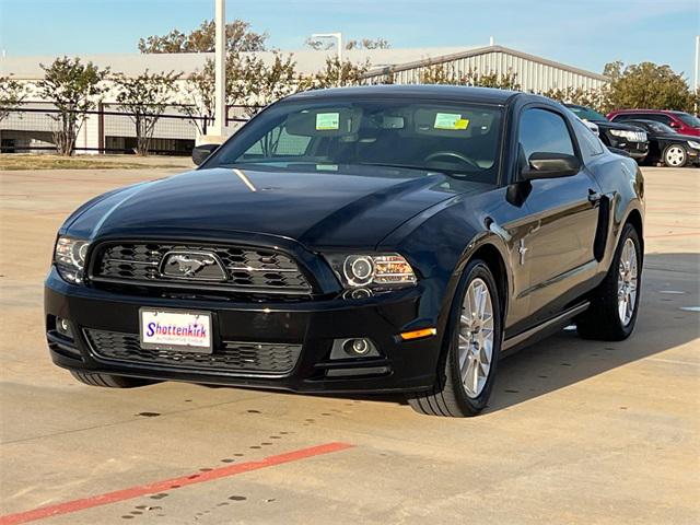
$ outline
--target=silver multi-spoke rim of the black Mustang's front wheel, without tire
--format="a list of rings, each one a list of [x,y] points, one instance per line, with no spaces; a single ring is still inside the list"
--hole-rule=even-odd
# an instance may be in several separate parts
[[[478,277],[462,304],[458,349],[462,385],[474,399],[486,386],[493,358],[493,303],[489,287]]]

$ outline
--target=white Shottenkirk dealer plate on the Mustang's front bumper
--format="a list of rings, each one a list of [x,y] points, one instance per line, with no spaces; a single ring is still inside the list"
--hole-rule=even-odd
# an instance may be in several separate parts
[[[212,353],[211,314],[141,308],[141,347]]]

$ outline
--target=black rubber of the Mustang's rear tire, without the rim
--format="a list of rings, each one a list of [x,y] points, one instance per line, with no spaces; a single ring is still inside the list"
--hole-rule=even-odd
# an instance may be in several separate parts
[[[626,325],[618,313],[618,271],[622,248],[628,238],[634,244],[637,253],[637,296],[632,316]],[[627,223],[622,229],[620,242],[605,280],[591,294],[588,310],[576,318],[576,328],[581,337],[603,341],[621,341],[632,334],[642,295],[642,264],[643,254],[639,233],[632,224]]]

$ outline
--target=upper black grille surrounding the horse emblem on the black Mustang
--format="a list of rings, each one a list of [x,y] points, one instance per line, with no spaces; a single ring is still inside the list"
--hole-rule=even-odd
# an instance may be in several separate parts
[[[172,277],[162,272],[170,252],[214,254],[225,280]],[[310,294],[311,285],[289,256],[268,248],[221,245],[119,243],[96,252],[91,279],[97,283],[171,285],[247,293]]]

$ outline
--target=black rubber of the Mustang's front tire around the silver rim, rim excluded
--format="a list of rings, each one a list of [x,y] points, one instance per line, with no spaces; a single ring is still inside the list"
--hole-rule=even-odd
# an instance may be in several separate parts
[[[476,278],[480,278],[487,284],[491,295],[493,307],[493,350],[491,368],[486,378],[483,389],[477,397],[470,398],[467,396],[459,374],[457,341],[464,298],[469,284]],[[477,416],[486,408],[491,388],[493,387],[501,351],[501,301],[499,300],[498,288],[491,270],[489,270],[489,267],[482,260],[471,260],[463,272],[453,300],[450,320],[447,322],[447,329],[443,341],[445,350],[443,351],[443,358],[439,365],[435,384],[430,390],[415,394],[408,398],[408,404],[413,410],[428,416],[464,418]]]

